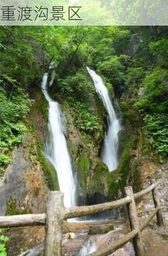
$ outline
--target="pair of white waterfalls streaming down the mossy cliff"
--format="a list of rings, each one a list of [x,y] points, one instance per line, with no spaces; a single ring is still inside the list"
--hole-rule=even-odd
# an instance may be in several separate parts
[[[96,92],[108,111],[108,131],[104,138],[102,161],[108,166],[109,172],[111,172],[118,166],[118,131],[120,131],[121,126],[111,104],[108,89],[102,82],[101,77],[88,67],[87,70],[92,77]],[[53,101],[47,92],[48,86],[51,86],[52,83],[53,76],[51,81],[48,81],[48,73],[45,73],[41,84],[41,90],[49,105],[48,140],[46,141],[45,154],[57,171],[60,191],[64,193],[64,205],[66,207],[73,207],[76,205],[76,186],[73,178],[71,157],[69,156],[66,143],[66,124],[58,102]]]

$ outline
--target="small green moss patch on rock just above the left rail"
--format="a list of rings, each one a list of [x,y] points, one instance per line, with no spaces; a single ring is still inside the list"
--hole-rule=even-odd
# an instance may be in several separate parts
[[[16,200],[13,200],[12,198],[8,200],[6,207],[6,215],[20,215],[29,213],[31,213],[31,211],[27,208],[18,209]]]

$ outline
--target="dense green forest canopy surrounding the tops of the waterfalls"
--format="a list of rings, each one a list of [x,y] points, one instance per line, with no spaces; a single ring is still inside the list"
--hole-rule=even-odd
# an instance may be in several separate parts
[[[167,27],[158,26],[1,27],[1,171],[28,129],[25,117],[33,104],[29,92],[38,90],[52,61],[57,92],[71,104],[80,99],[81,87],[87,90],[86,65],[102,74],[116,97],[127,93],[131,108],[141,114],[148,145],[163,161],[168,154],[167,35]],[[85,104],[75,107],[80,115]],[[96,127],[99,120],[92,122]],[[94,125],[82,129],[92,133]]]

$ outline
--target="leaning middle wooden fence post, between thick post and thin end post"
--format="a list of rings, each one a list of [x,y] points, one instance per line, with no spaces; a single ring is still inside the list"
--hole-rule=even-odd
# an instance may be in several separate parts
[[[137,236],[134,237],[133,239],[134,249],[136,251],[136,256],[143,256],[144,249],[143,249],[143,243],[141,239],[141,231],[139,228],[139,221],[137,217],[136,202],[134,200],[134,193],[132,191],[132,187],[130,186],[126,187],[125,193],[127,196],[130,196],[130,199],[132,200],[128,205],[130,228],[131,230],[137,230]]]

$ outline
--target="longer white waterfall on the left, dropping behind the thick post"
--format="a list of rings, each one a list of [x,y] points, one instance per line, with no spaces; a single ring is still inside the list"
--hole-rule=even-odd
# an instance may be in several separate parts
[[[50,81],[50,86],[53,82]],[[53,101],[47,92],[48,73],[43,76],[41,90],[48,101],[48,140],[46,141],[46,157],[57,170],[60,191],[64,193],[64,205],[73,207],[76,205],[75,184],[71,168],[71,158],[66,144],[66,125],[64,115],[59,108],[58,102]]]

